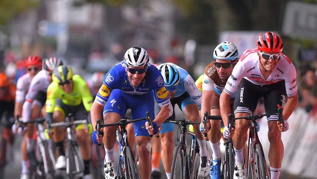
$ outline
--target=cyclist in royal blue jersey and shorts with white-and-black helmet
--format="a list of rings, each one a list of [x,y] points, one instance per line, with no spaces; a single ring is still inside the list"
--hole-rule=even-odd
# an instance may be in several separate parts
[[[96,120],[101,118],[102,110],[105,124],[120,121],[129,108],[132,120],[145,117],[146,111],[150,111],[151,116],[154,117],[152,92],[154,91],[155,99],[161,108],[153,120],[154,129],[144,121],[133,123],[141,178],[150,178],[151,175],[152,158],[149,134],[158,135],[158,126],[173,113],[163,77],[159,70],[148,62],[149,55],[145,49],[141,47],[128,49],[124,60],[113,66],[106,74],[90,111],[93,126],[96,125]],[[99,138],[96,138],[96,131],[92,135],[94,143],[101,144],[102,141],[104,143],[106,151],[104,170],[105,177],[109,179],[117,178],[113,156],[116,129],[117,127],[104,127],[100,130],[105,134],[104,136],[100,135]]]

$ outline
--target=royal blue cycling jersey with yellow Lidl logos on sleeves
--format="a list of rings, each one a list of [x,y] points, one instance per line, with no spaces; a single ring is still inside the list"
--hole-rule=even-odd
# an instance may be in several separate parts
[[[159,70],[152,64],[148,64],[146,76],[143,81],[137,86],[133,86],[127,77],[125,63],[114,65],[106,74],[103,84],[100,87],[95,101],[100,105],[105,106],[113,89],[120,89],[122,92],[129,95],[143,95],[147,92],[154,92],[154,98],[159,106],[164,106],[169,103],[169,97],[164,86],[164,80]]]

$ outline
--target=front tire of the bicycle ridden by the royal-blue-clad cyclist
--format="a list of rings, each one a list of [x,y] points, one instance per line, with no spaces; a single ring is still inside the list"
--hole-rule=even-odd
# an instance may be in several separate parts
[[[131,179],[140,179],[139,168],[134,160],[133,152],[129,146],[124,148],[126,171]]]

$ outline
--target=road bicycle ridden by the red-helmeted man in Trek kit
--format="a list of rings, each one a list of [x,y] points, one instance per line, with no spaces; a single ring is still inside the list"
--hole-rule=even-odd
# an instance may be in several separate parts
[[[237,119],[250,120],[248,158],[250,158],[250,162],[251,162],[251,173],[252,173],[253,179],[269,179],[270,178],[268,173],[268,168],[266,165],[263,147],[262,147],[262,144],[260,143],[260,139],[257,133],[256,120],[264,116],[271,116],[271,115],[275,115],[275,116],[277,115],[278,120],[281,122],[281,124],[283,124],[283,127],[285,129],[284,119],[282,116],[282,108],[278,108],[277,113],[275,114],[250,114],[248,116],[237,117],[237,118],[233,118],[232,114],[228,115],[229,135],[231,135],[231,127],[233,126],[233,120],[237,120]]]

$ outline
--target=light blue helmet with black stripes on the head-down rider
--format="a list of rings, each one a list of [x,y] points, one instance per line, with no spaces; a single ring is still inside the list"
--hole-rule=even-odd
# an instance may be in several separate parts
[[[164,63],[158,66],[159,71],[161,72],[165,87],[176,86],[179,82],[179,72],[174,65]]]

